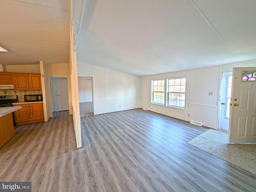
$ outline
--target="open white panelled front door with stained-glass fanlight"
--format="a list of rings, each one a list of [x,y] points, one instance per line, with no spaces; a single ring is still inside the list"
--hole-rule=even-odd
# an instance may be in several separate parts
[[[256,67],[233,69],[230,143],[256,142]]]

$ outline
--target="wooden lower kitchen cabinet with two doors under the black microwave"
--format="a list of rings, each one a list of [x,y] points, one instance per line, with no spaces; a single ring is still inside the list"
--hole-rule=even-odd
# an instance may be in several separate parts
[[[22,108],[14,112],[16,125],[44,122],[44,108],[42,103],[13,104]]]

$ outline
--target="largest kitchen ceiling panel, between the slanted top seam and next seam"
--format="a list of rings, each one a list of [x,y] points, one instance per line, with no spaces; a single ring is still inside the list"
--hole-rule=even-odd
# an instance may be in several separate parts
[[[69,41],[70,11],[1,0],[0,37]]]

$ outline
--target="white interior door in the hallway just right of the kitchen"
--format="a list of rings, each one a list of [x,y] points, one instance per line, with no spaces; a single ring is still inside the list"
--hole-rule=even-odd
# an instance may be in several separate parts
[[[68,110],[68,79],[56,78],[58,111]]]

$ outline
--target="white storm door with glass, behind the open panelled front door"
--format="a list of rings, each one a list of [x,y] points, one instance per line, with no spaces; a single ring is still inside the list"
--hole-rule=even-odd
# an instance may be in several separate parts
[[[230,117],[230,99],[232,87],[232,71],[222,72],[222,90],[220,97],[220,123],[219,129],[228,131]]]

